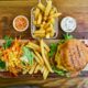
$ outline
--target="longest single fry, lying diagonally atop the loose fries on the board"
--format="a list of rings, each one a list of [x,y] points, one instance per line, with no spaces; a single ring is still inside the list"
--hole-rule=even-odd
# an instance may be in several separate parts
[[[48,70],[50,70],[51,73],[53,73],[53,69],[52,69],[52,67],[51,67],[51,65],[50,65],[50,63],[48,63],[48,61],[47,61],[47,58],[46,58],[46,56],[45,56],[43,40],[41,40],[41,52],[42,52],[42,57],[43,57],[43,59],[44,59],[44,62],[45,62],[46,67],[48,68]]]

